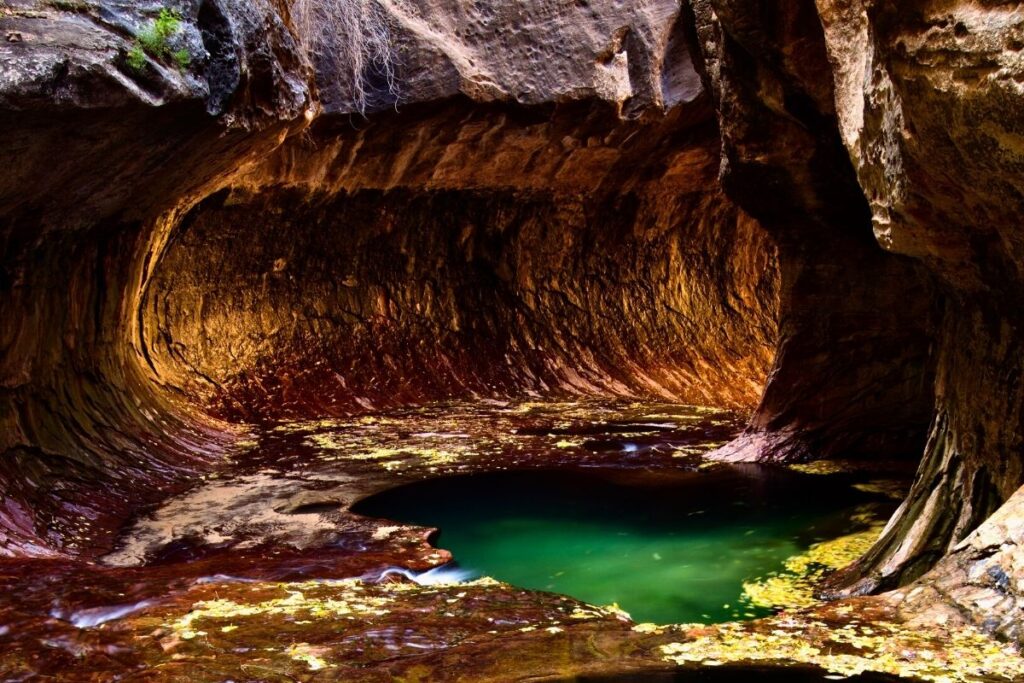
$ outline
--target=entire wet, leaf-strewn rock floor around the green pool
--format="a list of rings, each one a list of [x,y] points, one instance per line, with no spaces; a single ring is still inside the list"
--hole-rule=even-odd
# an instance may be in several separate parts
[[[19,596],[0,612],[9,644],[0,667],[67,680],[497,681],[677,666],[679,680],[703,680],[706,666],[730,664],[742,677],[784,664],[809,677],[1014,680],[1024,665],[1013,650],[959,621],[904,627],[888,599],[818,606],[803,580],[769,580],[755,595],[784,609],[778,616],[638,625],[614,606],[488,579],[451,583],[455,574],[431,571],[451,556],[427,542],[429,529],[347,512],[381,487],[441,474],[727,467],[699,454],[738,427],[714,411],[594,401],[284,423],[142,515],[98,564],[0,562],[0,585]],[[624,449],[624,438],[642,447]],[[812,547],[791,570],[841,566],[858,543]]]

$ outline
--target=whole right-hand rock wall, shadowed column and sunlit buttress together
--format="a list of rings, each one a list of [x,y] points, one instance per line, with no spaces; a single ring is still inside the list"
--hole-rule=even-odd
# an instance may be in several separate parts
[[[929,600],[938,601],[947,615],[1019,640],[1024,14],[1018,3],[947,0],[692,4],[723,128],[726,190],[779,242],[783,282],[782,232],[799,244],[838,232],[870,238],[862,251],[887,265],[866,279],[877,288],[868,300],[893,329],[911,333],[893,337],[907,342],[904,364],[920,362],[913,356],[924,348],[911,342],[909,321],[923,323],[932,349],[925,365],[935,364],[935,401],[913,488],[874,548],[834,577],[829,592],[905,585],[945,556],[923,580],[927,591],[908,594],[909,609],[928,612]],[[781,206],[765,206],[749,184],[766,172],[792,190]],[[854,182],[847,206],[855,211],[829,213],[835,190]],[[778,225],[776,212],[786,211],[816,220]],[[827,252],[819,263],[835,261]],[[773,379],[751,430],[727,456],[772,458],[794,435],[798,447],[806,442],[799,428],[775,431],[793,423],[775,399],[787,339],[814,328],[807,319],[793,325],[786,300],[783,285],[783,350]],[[809,303],[825,315],[835,309]],[[880,379],[851,375],[843,391],[860,396]]]

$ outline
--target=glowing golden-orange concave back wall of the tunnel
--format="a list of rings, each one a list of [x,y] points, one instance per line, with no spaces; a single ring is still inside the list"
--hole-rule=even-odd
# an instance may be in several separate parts
[[[713,133],[459,102],[296,143],[287,184],[261,168],[183,218],[146,292],[150,357],[232,419],[524,394],[749,407],[774,248],[717,189]]]

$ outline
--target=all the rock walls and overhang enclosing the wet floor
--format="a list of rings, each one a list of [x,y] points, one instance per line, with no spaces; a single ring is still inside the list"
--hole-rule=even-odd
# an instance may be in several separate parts
[[[719,457],[924,453],[831,593],[952,551],[1019,638],[1014,515],[964,540],[1024,480],[1024,14],[898,4],[6,3],[4,552],[98,552],[229,421],[767,375]]]

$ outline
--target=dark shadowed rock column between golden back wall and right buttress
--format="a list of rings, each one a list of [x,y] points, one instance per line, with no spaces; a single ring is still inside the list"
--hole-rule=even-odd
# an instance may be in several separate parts
[[[932,408],[931,285],[887,254],[838,130],[812,3],[694,2],[726,193],[779,246],[779,346],[730,460],[906,455]]]

